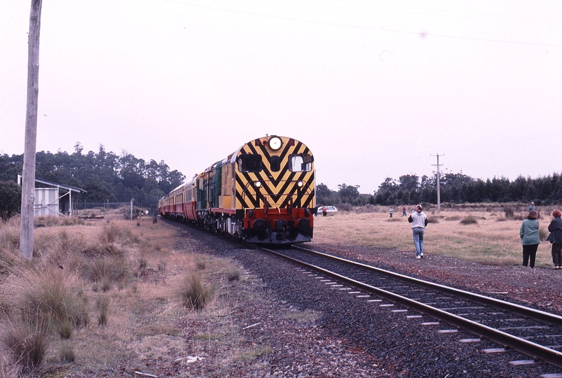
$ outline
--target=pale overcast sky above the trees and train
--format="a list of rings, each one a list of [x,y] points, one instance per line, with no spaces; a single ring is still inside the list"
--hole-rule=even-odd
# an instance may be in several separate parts
[[[0,154],[25,139],[31,1],[0,0]],[[193,174],[266,134],[317,183],[562,172],[562,1],[45,0],[37,151]]]

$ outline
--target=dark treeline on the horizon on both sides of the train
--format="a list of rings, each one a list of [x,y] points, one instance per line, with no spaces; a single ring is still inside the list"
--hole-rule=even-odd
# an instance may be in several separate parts
[[[0,155],[0,181],[16,181],[22,173],[23,154]],[[156,209],[158,200],[179,186],[185,176],[170,171],[165,162],[137,159],[130,153],[116,155],[105,151],[83,153],[77,143],[74,153],[38,152],[36,178],[88,190],[81,202],[129,202],[135,206]],[[465,174],[444,174],[440,178],[441,202],[531,202],[537,205],[562,203],[560,174],[537,179],[519,176],[514,181],[493,178],[483,181]],[[338,185],[330,190],[324,183],[316,186],[317,204],[379,204],[383,206],[437,203],[437,176],[406,174],[399,179],[387,178],[373,195],[360,194],[359,186]]]

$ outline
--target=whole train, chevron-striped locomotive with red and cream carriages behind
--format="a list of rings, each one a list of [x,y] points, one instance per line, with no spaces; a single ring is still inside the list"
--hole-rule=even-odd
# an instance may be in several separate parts
[[[313,237],[314,156],[296,139],[248,142],[158,201],[158,212],[256,244]]]

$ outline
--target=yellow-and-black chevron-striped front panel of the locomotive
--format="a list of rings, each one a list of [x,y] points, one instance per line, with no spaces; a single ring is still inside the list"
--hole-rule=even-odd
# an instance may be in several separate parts
[[[236,167],[236,209],[315,207],[312,153],[300,141],[286,137],[280,139],[282,146],[277,151],[268,146],[268,137],[249,142],[238,151],[238,156],[260,155],[261,170],[240,172],[239,167]],[[307,169],[292,172],[291,159],[295,155],[310,159]],[[261,186],[257,187],[256,182],[261,183]],[[299,182],[302,186],[299,186]]]

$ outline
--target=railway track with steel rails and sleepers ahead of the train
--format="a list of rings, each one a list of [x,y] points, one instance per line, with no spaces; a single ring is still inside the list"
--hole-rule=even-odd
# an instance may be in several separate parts
[[[444,332],[467,330],[503,346],[490,349],[488,353],[513,349],[530,357],[529,360],[512,361],[514,364],[543,361],[562,368],[562,316],[415,279],[300,246],[276,251],[261,249],[301,265],[303,269],[328,277],[334,281],[331,283],[334,287],[345,285],[357,288],[366,295],[378,297],[369,299],[370,301],[392,302],[388,304],[394,308],[392,311],[405,312],[411,309],[456,327]],[[476,342],[479,339],[462,341]]]

